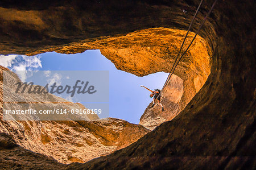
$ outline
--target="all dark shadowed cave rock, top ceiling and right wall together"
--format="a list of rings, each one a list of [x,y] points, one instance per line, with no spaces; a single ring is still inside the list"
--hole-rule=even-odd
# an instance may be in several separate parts
[[[101,1],[101,4],[84,5],[81,1],[71,4],[52,0],[46,1],[46,5],[12,2],[3,1],[1,6],[31,10],[34,14],[43,11],[39,18],[44,18],[45,29],[39,27],[40,22],[36,22],[38,27],[33,24],[25,27],[26,22],[8,21],[7,16],[2,16],[1,51],[5,54],[48,51],[57,45],[62,48],[71,42],[86,39],[89,42],[101,36],[125,35],[147,28],[182,30],[188,27],[199,4],[197,0]],[[192,31],[199,27],[212,3],[212,0],[204,1]],[[177,117],[122,150],[85,164],[74,163],[68,168],[255,169],[254,6],[251,0],[217,2],[200,32],[210,54],[210,75]],[[183,9],[188,13],[184,14]],[[179,75],[181,71],[186,72],[187,68],[176,72],[183,78]],[[193,89],[191,85],[198,84],[198,79],[187,82],[188,89]],[[183,80],[184,92],[187,83]]]

